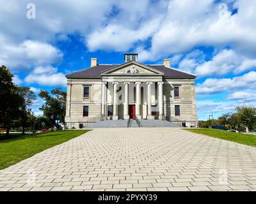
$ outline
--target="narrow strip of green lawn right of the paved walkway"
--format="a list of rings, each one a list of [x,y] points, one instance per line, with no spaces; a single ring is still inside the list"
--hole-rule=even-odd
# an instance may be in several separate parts
[[[213,138],[220,138],[222,140],[228,140],[232,142],[241,143],[244,145],[250,145],[256,147],[256,136],[245,135],[243,133],[233,133],[220,129],[184,129],[192,133],[203,134],[212,136]]]

